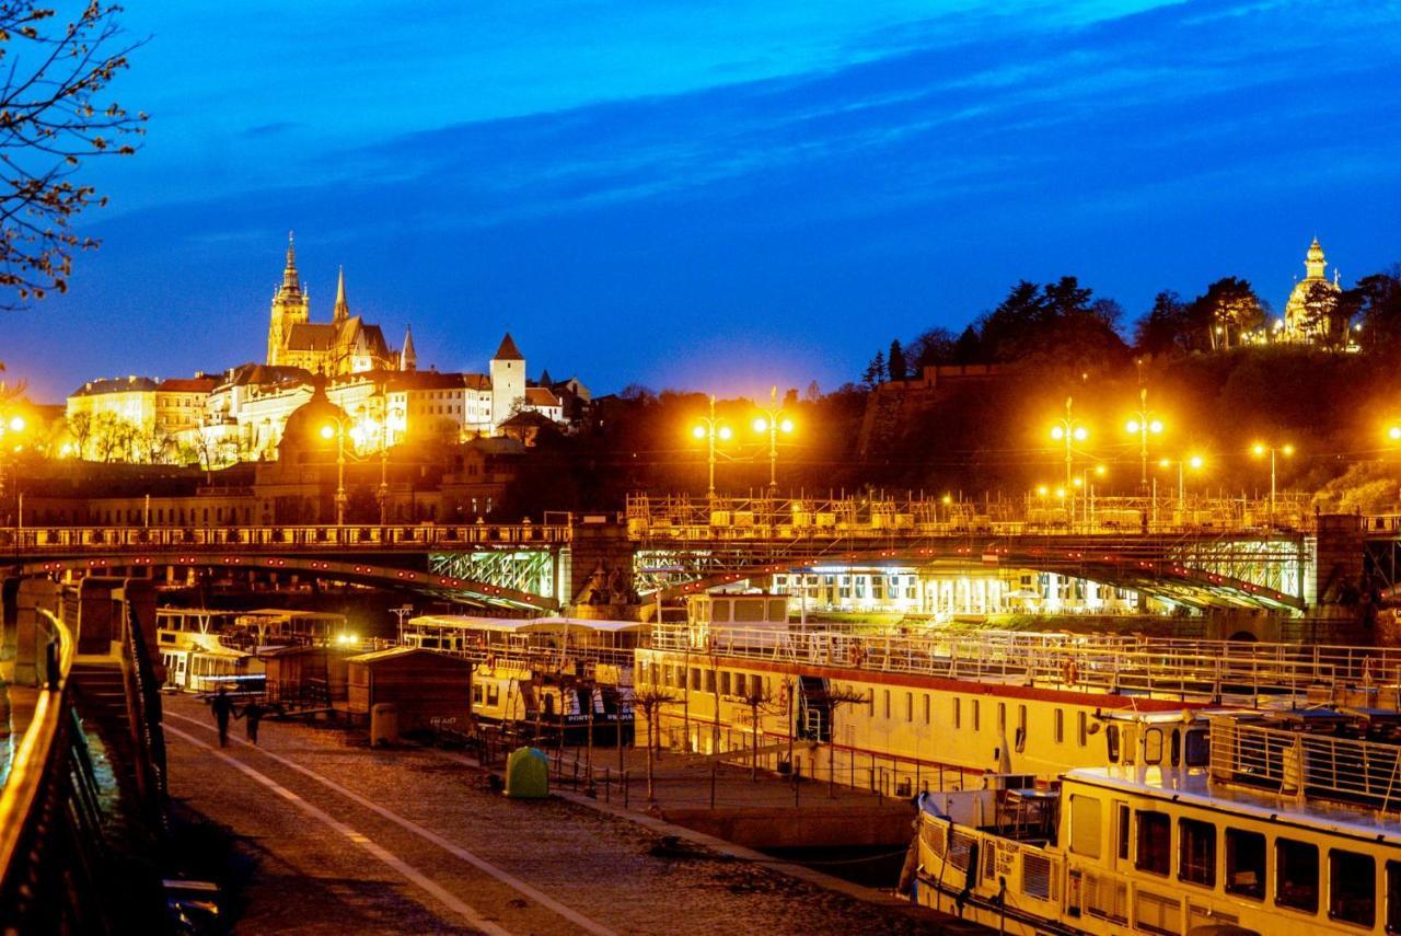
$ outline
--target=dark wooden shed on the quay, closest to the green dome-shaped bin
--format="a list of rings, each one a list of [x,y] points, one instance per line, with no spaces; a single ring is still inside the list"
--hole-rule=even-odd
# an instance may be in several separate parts
[[[433,719],[457,719],[465,729],[471,713],[472,664],[462,657],[394,647],[350,657],[349,710],[350,715],[370,715],[380,703],[391,703],[398,710],[399,731],[422,731],[433,727]]]

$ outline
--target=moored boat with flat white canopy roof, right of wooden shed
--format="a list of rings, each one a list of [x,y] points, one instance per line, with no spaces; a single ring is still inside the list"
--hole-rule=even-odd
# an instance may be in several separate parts
[[[472,715],[535,734],[632,738],[632,656],[646,625],[583,618],[425,615],[402,642],[471,659]],[[619,740],[621,737],[621,740]]]

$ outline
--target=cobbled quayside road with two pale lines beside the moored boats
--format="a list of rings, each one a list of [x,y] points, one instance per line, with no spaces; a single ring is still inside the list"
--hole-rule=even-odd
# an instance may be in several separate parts
[[[433,750],[263,723],[219,750],[207,708],[167,699],[174,797],[251,863],[240,932],[937,933],[918,908],[744,860],[574,797],[507,800]],[[969,932],[955,925],[957,932]]]

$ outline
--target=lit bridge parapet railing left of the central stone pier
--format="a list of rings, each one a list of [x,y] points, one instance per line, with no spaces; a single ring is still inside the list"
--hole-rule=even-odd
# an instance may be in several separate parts
[[[32,555],[109,549],[287,549],[346,548],[460,551],[472,546],[562,545],[570,528],[559,524],[464,525],[266,525],[266,527],[25,527],[0,530],[0,548]]]

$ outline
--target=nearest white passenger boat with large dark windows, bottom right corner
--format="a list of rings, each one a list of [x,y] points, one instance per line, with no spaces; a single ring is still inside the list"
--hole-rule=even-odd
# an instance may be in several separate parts
[[[1401,747],[1367,740],[1374,710],[1314,715],[1216,713],[1209,758],[922,796],[915,898],[1028,936],[1401,932]]]

